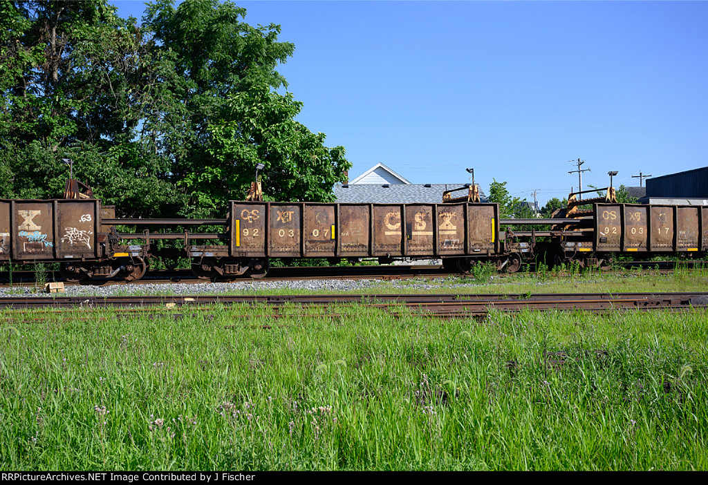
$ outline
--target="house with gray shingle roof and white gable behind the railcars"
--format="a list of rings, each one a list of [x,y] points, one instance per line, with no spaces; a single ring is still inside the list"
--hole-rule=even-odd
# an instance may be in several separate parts
[[[336,201],[343,204],[440,204],[442,192],[458,187],[469,187],[469,184],[411,184],[383,163],[377,163],[350,183],[335,185],[334,195]],[[464,192],[457,192],[453,197],[455,195],[464,195]],[[479,198],[487,201],[481,190]]]

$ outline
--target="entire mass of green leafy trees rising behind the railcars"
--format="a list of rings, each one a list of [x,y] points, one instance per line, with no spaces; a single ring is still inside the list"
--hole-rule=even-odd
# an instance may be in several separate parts
[[[0,0],[0,197],[57,197],[62,158],[126,216],[207,216],[264,163],[270,200],[332,201],[344,148],[295,121],[295,46],[226,1]]]

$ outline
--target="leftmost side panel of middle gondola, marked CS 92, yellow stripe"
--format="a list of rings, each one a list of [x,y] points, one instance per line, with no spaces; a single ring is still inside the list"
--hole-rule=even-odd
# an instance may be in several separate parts
[[[265,256],[268,233],[265,204],[231,203],[231,255],[234,257]]]

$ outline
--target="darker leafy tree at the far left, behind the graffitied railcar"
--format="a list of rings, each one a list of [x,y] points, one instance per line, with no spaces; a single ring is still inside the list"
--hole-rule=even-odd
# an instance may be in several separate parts
[[[128,215],[178,199],[164,180],[169,166],[136,140],[149,78],[161,70],[150,47],[135,19],[105,0],[0,0],[3,197],[57,197],[68,175],[61,159],[72,158],[96,195]]]

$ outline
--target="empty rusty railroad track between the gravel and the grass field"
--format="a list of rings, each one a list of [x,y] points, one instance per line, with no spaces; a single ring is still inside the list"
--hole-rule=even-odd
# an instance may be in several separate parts
[[[282,317],[283,310],[331,308],[360,304],[399,313],[409,309],[435,317],[480,317],[491,309],[522,310],[680,310],[707,308],[708,293],[504,293],[436,295],[278,295],[278,296],[105,296],[105,297],[21,297],[0,298],[0,309],[119,308],[142,312],[149,309],[193,308],[207,310],[221,305],[265,305],[270,317]],[[406,310],[404,310],[406,309]],[[333,316],[338,313],[328,312]],[[244,315],[245,316],[245,315]]]

